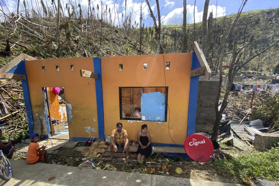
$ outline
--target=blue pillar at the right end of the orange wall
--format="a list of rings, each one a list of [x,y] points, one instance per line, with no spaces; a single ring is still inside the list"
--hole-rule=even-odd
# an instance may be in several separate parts
[[[201,67],[200,62],[195,52],[192,52],[192,67],[191,70]],[[187,123],[187,137],[195,133],[196,126],[196,111],[198,99],[198,79],[199,76],[192,76],[190,80],[190,95],[188,107],[188,123]]]

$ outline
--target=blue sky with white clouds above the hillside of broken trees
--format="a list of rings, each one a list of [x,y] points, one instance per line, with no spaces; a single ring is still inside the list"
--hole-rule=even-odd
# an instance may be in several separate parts
[[[0,1],[1,5],[5,10],[7,8],[9,11],[14,11],[17,6],[17,0],[3,0],[6,6]],[[26,0],[31,7],[31,1],[33,2],[33,6],[36,6],[35,0]],[[51,4],[51,0],[43,0],[47,2],[49,7]],[[57,0],[54,0],[57,4]],[[66,3],[69,4],[69,1],[75,2],[74,0],[61,0],[62,6],[65,7]],[[157,15],[157,8],[155,0],[149,0],[150,5],[152,6],[154,15]],[[21,5],[20,9],[23,9],[22,2],[20,0]],[[83,12],[86,15],[88,0],[76,0],[77,4],[81,3],[83,7]],[[108,9],[111,10],[111,16],[113,19],[113,23],[115,25],[121,25],[122,23],[122,13],[125,15],[125,0],[103,0],[103,7],[105,5],[108,6]],[[140,2],[142,2],[142,14],[144,15],[144,25],[152,26],[153,20],[149,16],[149,9],[144,0],[127,0],[127,15],[132,12],[133,22],[140,22]],[[205,0],[196,0],[196,6],[194,8],[194,0],[187,0],[187,22],[194,22],[193,13],[195,10],[195,22],[200,22],[202,20],[203,14],[203,6]],[[218,2],[218,3],[217,3]],[[101,7],[101,0],[91,0],[93,7]],[[216,4],[217,3],[217,4]],[[75,3],[74,3],[75,4]],[[183,21],[183,0],[159,0],[160,9],[161,9],[161,19],[162,24],[182,24]],[[216,6],[217,6],[217,17],[236,13],[241,5],[241,0],[211,0],[209,3],[209,11],[213,11],[213,16],[216,15]],[[40,6],[40,5],[39,5]],[[278,8],[279,0],[248,0],[246,5],[244,6],[243,11],[249,10],[257,10],[257,9],[266,9],[266,8]],[[31,9],[31,8],[30,8]],[[209,13],[209,12],[208,12]],[[1,14],[0,14],[1,15]]]

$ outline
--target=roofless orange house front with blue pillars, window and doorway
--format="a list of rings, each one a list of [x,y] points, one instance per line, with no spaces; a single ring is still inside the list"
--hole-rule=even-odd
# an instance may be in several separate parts
[[[70,140],[104,139],[121,122],[129,140],[147,124],[152,145],[177,147],[195,131],[199,76],[210,78],[196,42],[189,53],[22,60],[4,69],[24,75],[30,134],[37,115],[50,137],[44,87],[64,87]]]

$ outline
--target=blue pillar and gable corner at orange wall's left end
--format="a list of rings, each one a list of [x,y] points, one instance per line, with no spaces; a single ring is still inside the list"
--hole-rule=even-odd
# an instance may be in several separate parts
[[[23,97],[24,97],[24,104],[25,104],[25,110],[26,110],[26,116],[27,116],[27,122],[28,122],[28,128],[29,128],[29,135],[32,135],[34,119],[33,119],[32,107],[31,107],[28,80],[27,80],[27,75],[26,75],[25,61],[22,60],[21,62],[19,62],[12,69],[10,69],[7,73],[25,75],[25,79],[21,80],[22,92],[23,92]]]

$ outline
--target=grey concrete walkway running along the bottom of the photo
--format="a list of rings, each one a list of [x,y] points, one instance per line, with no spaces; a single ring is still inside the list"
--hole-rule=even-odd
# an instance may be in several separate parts
[[[239,184],[219,183],[169,176],[158,176],[140,173],[106,171],[87,168],[62,166],[56,164],[27,164],[21,160],[10,160],[12,178],[9,181],[0,180],[0,186],[236,186]],[[48,178],[56,178],[49,181]],[[239,185],[240,186],[240,185]]]

